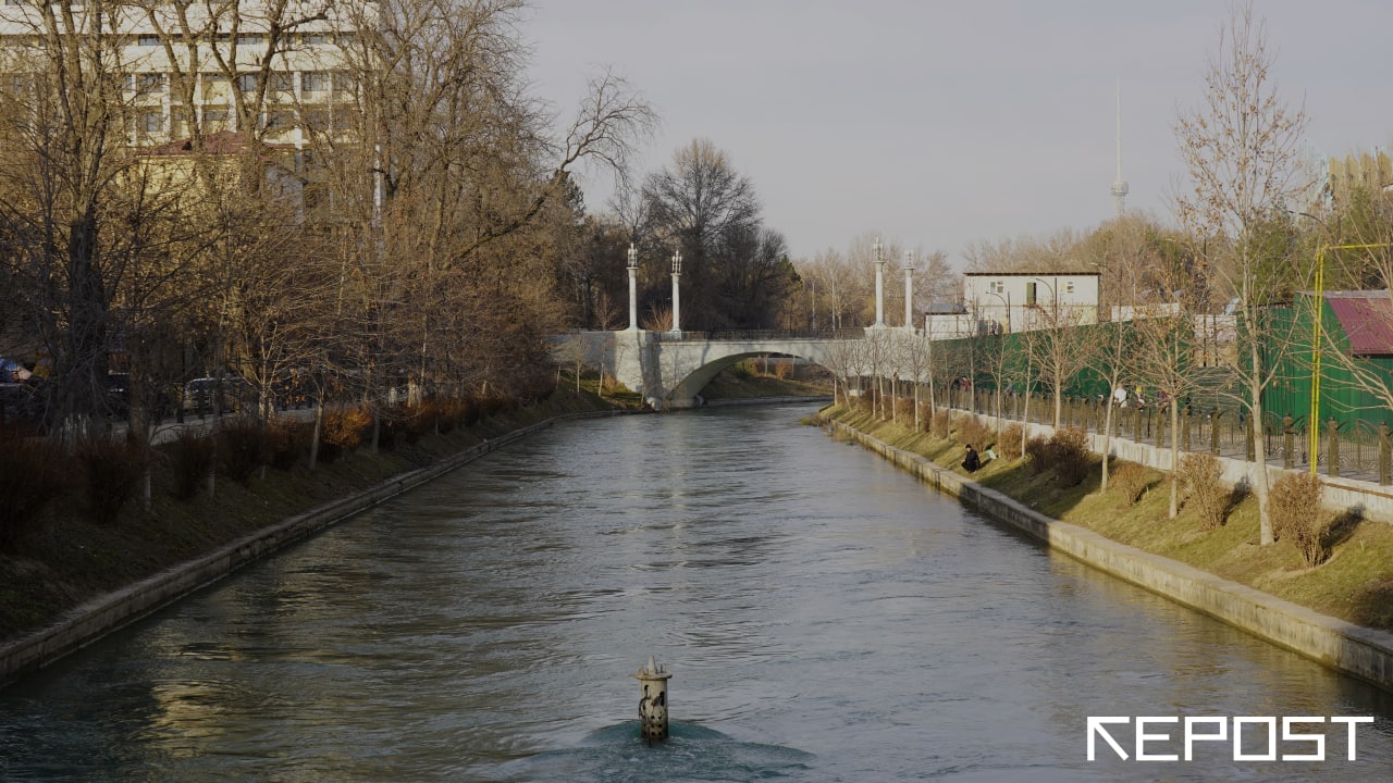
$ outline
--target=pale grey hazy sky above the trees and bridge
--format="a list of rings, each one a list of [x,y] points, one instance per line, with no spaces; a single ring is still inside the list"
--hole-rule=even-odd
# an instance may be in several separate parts
[[[1393,142],[1393,3],[1256,0],[1318,155]],[[1180,109],[1202,99],[1226,0],[534,0],[535,92],[561,121],[588,75],[662,114],[642,173],[708,138],[795,258],[866,233],[949,254],[1112,217],[1121,82],[1128,210],[1172,222]],[[584,181],[591,210],[612,192]]]

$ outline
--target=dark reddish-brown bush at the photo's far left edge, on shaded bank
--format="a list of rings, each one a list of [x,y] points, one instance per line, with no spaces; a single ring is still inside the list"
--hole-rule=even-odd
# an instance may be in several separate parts
[[[0,442],[0,549],[13,550],[43,520],[43,509],[72,490],[72,464],[45,439]]]

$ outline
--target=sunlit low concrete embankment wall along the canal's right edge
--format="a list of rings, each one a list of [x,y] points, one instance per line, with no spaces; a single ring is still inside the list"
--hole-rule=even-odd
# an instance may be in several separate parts
[[[841,422],[832,422],[832,426],[940,492],[958,497],[965,506],[1014,525],[1048,542],[1053,549],[1332,669],[1393,691],[1393,634],[1319,614],[1169,557],[1053,520],[918,454],[894,449]]]

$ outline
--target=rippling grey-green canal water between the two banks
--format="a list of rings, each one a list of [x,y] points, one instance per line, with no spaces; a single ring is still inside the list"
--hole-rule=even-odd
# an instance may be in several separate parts
[[[556,426],[0,691],[4,780],[1353,780],[1393,704],[1052,555],[808,405]],[[638,681],[673,673],[673,737]],[[1088,716],[1368,716],[1135,761]],[[1197,733],[1213,733],[1204,724]],[[1280,724],[1279,724],[1280,731]],[[1184,758],[1183,723],[1146,754]],[[1282,741],[1314,754],[1314,741]]]

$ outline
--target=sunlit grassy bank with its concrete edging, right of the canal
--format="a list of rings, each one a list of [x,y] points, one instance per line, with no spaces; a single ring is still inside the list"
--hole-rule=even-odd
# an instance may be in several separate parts
[[[1291,543],[1258,546],[1251,499],[1237,500],[1223,525],[1206,529],[1192,510],[1166,518],[1169,478],[1159,472],[1148,474],[1141,500],[1127,506],[1119,490],[1098,490],[1096,458],[1073,488],[1031,471],[1024,458],[988,463],[968,478],[953,436],[844,407],[825,408],[819,421],[1052,548],[1393,690],[1393,527],[1386,522],[1346,525],[1330,542],[1332,557],[1305,567]]]

